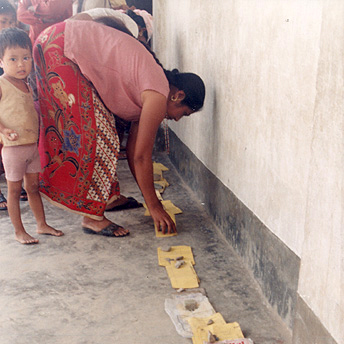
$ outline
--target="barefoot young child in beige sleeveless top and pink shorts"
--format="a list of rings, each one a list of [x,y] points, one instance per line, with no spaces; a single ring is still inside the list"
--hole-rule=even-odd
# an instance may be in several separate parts
[[[22,244],[36,244],[38,239],[25,231],[21,220],[19,199],[23,178],[37,221],[37,233],[62,236],[63,232],[46,223],[39,194],[38,115],[26,83],[32,69],[32,44],[23,30],[8,28],[0,32],[0,66],[4,70],[0,77],[0,135],[4,145],[8,213],[15,239]]]

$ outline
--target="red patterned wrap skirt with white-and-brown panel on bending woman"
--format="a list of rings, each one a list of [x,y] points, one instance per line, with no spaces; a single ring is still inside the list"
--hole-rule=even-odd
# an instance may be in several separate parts
[[[119,197],[119,140],[113,115],[64,54],[65,23],[34,46],[41,109],[41,192],[57,206],[96,220]]]

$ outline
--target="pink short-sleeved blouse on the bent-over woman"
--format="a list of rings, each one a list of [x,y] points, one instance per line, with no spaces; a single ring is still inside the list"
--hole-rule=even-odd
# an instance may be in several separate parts
[[[135,38],[90,21],[67,21],[64,54],[76,63],[106,107],[127,121],[137,121],[141,94],[153,90],[168,97],[163,69]]]

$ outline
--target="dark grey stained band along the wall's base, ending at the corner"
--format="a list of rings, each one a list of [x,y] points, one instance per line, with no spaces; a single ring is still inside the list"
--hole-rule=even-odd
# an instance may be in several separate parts
[[[158,148],[163,141],[158,135]],[[253,272],[271,306],[291,329],[300,259],[279,240],[169,129],[170,159],[204,202],[226,239]]]

